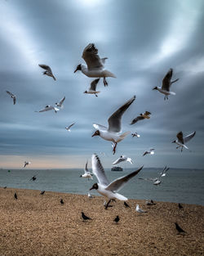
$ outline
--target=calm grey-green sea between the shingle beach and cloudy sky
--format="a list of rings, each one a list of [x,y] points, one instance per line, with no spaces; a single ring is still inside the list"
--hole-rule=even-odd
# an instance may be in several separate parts
[[[121,177],[133,170],[123,172],[106,171],[109,181]],[[170,169],[162,183],[154,186],[152,182],[139,180],[138,177],[158,177],[159,169],[144,168],[136,177],[122,188],[120,193],[130,199],[153,199],[186,204],[204,205],[204,170]],[[64,193],[87,194],[94,180],[80,177],[83,170],[0,170],[0,186],[59,191]],[[33,175],[37,179],[33,182]],[[91,195],[99,195],[91,191]]]

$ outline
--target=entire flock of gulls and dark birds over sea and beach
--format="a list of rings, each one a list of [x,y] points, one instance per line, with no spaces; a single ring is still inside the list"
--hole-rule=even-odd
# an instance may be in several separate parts
[[[107,57],[104,58],[100,58],[100,56],[98,55],[98,49],[95,47],[94,43],[89,43],[84,51],[82,52],[82,58],[84,59],[84,61],[86,62],[86,65],[84,64],[79,64],[76,68],[76,70],[74,70],[74,73],[76,73],[78,70],[82,71],[83,74],[85,74],[87,77],[89,78],[95,78],[95,80],[93,80],[91,82],[90,88],[88,88],[88,90],[86,90],[84,93],[86,94],[94,94],[95,97],[98,97],[98,94],[100,93],[100,91],[97,90],[97,85],[100,81],[100,78],[103,79],[104,82],[104,87],[108,86],[108,82],[106,80],[106,78],[111,77],[111,78],[116,78],[116,76],[111,73],[109,70],[105,70],[104,68],[104,64],[105,61],[108,59]],[[52,73],[51,67],[48,65],[39,65],[43,70],[43,74],[47,75],[49,77],[51,77],[52,79],[55,79],[54,74]],[[155,87],[153,88],[153,90],[157,90],[158,92],[161,92],[162,94],[164,94],[164,100],[168,100],[168,97],[170,95],[175,95],[175,92],[171,92],[170,88],[171,88],[171,84],[177,82],[179,79],[175,79],[173,81],[171,81],[173,76],[173,70],[170,69],[165,77],[162,80],[162,87]],[[13,100],[13,104],[16,104],[16,95],[14,95],[12,92],[7,91],[8,95],[10,95],[10,97]],[[59,102],[55,103],[55,106],[45,106],[42,110],[36,111],[36,112],[45,112],[48,110],[54,110],[55,113],[57,113],[57,111],[63,109],[63,103],[64,103],[65,97],[63,97]],[[95,128],[95,132],[92,135],[92,137],[95,136],[100,136],[102,139],[104,139],[105,141],[111,141],[112,142],[112,146],[113,146],[113,154],[115,154],[116,152],[116,148],[118,146],[118,143],[120,141],[122,141],[123,139],[126,138],[126,136],[128,136],[131,133],[132,137],[140,137],[140,134],[138,134],[137,132],[123,132],[122,133],[122,115],[126,112],[126,110],[131,106],[131,104],[135,101],[135,96],[131,97],[131,99],[129,99],[128,101],[126,101],[121,107],[118,108],[118,110],[116,110],[115,112],[113,112],[113,115],[111,115],[108,119],[108,127],[101,125],[101,124],[93,124],[93,127]],[[135,124],[141,120],[144,119],[150,119],[150,115],[151,113],[147,110],[144,111],[144,113],[138,115],[135,117],[135,119],[131,120],[131,125]],[[68,127],[66,127],[67,131],[70,132],[70,128],[72,128],[74,125],[70,124]],[[178,132],[176,137],[177,139],[175,141],[172,141],[172,143],[177,144],[177,148],[181,148],[181,151],[186,148],[188,149],[188,147],[186,146],[186,143],[192,139],[195,136],[196,132],[192,132],[190,134],[188,134],[187,136],[184,137],[183,132]],[[149,150],[145,150],[143,155],[153,155],[154,154],[154,149],[150,148]],[[127,161],[131,164],[133,164],[133,161],[131,158],[126,157],[126,155],[121,155],[118,159],[116,159],[113,162],[114,164],[119,164],[122,161]],[[87,168],[87,162],[86,162],[86,167],[85,167],[85,173],[81,175],[81,177],[86,177],[88,179],[92,179],[92,176],[95,175],[95,177],[97,178],[98,182],[93,184],[93,186],[91,186],[90,191],[91,190],[96,190],[98,191],[101,195],[104,195],[105,197],[109,198],[108,203],[105,202],[105,209],[108,209],[109,207],[111,207],[112,205],[110,205],[110,202],[112,200],[123,200],[125,201],[125,206],[129,207],[128,204],[126,204],[126,200],[127,198],[124,195],[121,195],[118,193],[119,190],[121,190],[122,186],[124,186],[126,184],[126,182],[128,182],[132,177],[135,177],[135,175],[137,175],[138,173],[140,173],[140,170],[143,168],[143,166],[141,166],[140,168],[138,168],[137,170],[135,170],[132,173],[129,173],[128,175],[124,176],[124,177],[119,177],[116,180],[114,180],[113,182],[109,182],[108,178],[106,177],[105,173],[104,173],[104,168],[102,166],[102,164],[100,163],[100,159],[97,155],[92,155],[91,158],[91,164],[92,164],[92,173],[88,170]],[[25,161],[24,162],[24,168],[26,165],[31,164],[29,161]],[[161,183],[161,180],[159,179],[160,177],[165,177],[166,176],[166,172],[169,168],[164,168],[162,170],[162,173],[160,173],[159,177],[156,178],[148,178],[148,179],[144,179],[144,180],[148,180],[153,182],[154,185],[158,185]],[[140,178],[142,179],[142,178]],[[44,191],[41,192],[41,195],[44,194]],[[17,195],[16,195],[17,196]],[[15,196],[15,198],[16,198]],[[89,193],[89,198],[91,198],[92,196]],[[17,199],[17,198],[16,198]],[[64,204],[63,200],[60,201],[61,204]],[[153,205],[153,201],[151,200],[150,202],[148,201],[147,203],[148,205]],[[137,204],[136,205],[136,212],[138,213],[145,213],[144,210],[140,209],[140,206]],[[82,218],[83,220],[88,220],[91,218],[86,217],[86,215],[82,212]],[[114,219],[115,222],[119,221],[119,217],[117,216]],[[177,224],[177,223],[175,223]],[[177,228],[178,224],[176,225]],[[178,230],[178,228],[177,228]]]

